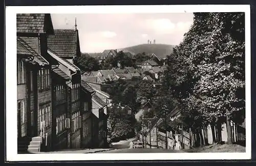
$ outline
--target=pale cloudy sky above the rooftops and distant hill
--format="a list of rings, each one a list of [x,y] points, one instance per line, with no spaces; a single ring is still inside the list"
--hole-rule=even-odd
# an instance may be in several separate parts
[[[54,29],[79,32],[81,52],[102,52],[146,44],[178,45],[193,23],[193,13],[51,14]]]

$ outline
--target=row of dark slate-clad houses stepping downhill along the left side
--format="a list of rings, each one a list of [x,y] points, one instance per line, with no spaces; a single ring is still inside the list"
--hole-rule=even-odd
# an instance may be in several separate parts
[[[18,152],[105,143],[106,104],[87,83],[81,86],[80,69],[71,61],[80,56],[78,30],[54,33],[50,14],[17,14]],[[95,115],[93,100],[100,107]]]

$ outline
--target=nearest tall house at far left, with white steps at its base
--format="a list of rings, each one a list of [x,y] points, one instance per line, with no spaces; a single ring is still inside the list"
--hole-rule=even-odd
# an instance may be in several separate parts
[[[40,143],[31,144],[36,139],[50,149],[52,70],[46,58],[47,37],[54,34],[51,16],[17,14],[16,20],[18,152],[38,151]]]

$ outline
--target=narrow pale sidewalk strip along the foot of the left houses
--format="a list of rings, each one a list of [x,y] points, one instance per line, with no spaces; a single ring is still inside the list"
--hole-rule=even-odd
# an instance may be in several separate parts
[[[109,151],[114,149],[82,149],[82,150],[61,150],[61,151],[53,151],[53,152],[32,152],[35,154],[61,154],[61,153],[96,153],[96,152],[103,152]]]

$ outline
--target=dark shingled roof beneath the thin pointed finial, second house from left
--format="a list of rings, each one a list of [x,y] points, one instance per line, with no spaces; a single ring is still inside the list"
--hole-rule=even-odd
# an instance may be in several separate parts
[[[54,30],[55,35],[49,35],[48,48],[57,53],[59,57],[80,57],[78,31]]]

